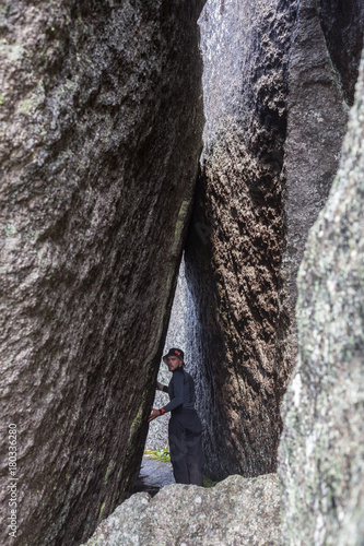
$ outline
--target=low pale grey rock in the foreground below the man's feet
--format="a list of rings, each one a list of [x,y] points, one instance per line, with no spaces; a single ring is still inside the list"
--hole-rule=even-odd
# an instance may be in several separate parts
[[[274,474],[231,476],[213,488],[172,485],[153,499],[133,495],[96,530],[87,546],[280,545]]]

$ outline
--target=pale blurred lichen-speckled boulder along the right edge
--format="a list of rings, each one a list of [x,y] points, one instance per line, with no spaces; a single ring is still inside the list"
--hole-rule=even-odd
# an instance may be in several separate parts
[[[364,62],[341,166],[298,274],[280,448],[284,543],[363,544]]]

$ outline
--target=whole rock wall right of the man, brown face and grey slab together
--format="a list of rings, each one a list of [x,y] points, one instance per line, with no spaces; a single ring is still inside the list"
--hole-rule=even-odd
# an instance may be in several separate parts
[[[186,248],[186,351],[197,355],[216,478],[277,465],[297,269],[338,168],[363,36],[359,2],[334,13],[318,0],[211,0],[200,17],[207,123]]]

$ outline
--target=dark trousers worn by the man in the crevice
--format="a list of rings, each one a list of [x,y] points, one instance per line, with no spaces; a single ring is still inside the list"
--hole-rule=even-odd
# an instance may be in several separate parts
[[[195,410],[172,412],[168,438],[176,483],[203,486],[202,425]]]

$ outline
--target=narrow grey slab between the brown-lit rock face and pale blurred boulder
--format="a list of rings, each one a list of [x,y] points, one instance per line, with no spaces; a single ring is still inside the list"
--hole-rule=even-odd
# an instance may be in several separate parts
[[[289,67],[283,195],[285,228],[280,294],[281,306],[286,314],[281,334],[282,367],[289,370],[293,368],[297,346],[297,272],[308,230],[326,203],[338,170],[349,111],[345,100],[348,93],[332,63],[322,32],[322,24],[332,22],[333,15],[328,17],[327,10],[320,15],[316,0],[300,2]],[[339,19],[337,26],[340,27]],[[342,56],[345,55],[350,55],[350,50],[342,49]]]

